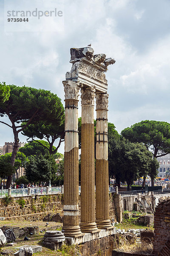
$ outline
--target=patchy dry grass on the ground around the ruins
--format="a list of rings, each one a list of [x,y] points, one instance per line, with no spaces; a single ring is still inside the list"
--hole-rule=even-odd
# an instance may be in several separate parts
[[[135,212],[136,213],[136,212]],[[119,223],[115,225],[117,228],[121,229],[137,229],[137,228],[142,228],[146,229],[147,227],[140,226],[133,224],[133,219],[130,218],[129,220],[124,219],[122,223]],[[48,227],[46,227],[46,221],[0,221],[0,227],[2,226],[11,226],[11,227],[30,227],[30,226],[38,226],[39,230],[42,230],[42,233],[39,233],[34,236],[28,236],[31,240],[28,241],[23,241],[23,238],[17,239],[16,246],[14,247],[20,247],[24,245],[42,245],[42,252],[38,252],[35,255],[36,256],[74,256],[77,255],[79,252],[79,247],[78,246],[68,246],[67,244],[64,244],[60,250],[54,251],[51,250],[50,248],[43,247],[42,244],[42,239],[45,234],[46,230],[61,230],[62,224],[57,223],[57,222],[48,222]],[[15,249],[14,247],[3,247],[2,250],[12,250],[13,252],[16,252],[18,249]],[[152,246],[150,244],[127,244],[125,241],[123,242],[123,239],[121,239],[121,244],[120,244],[120,249],[123,248],[125,251],[133,251],[133,252],[150,252],[152,250]],[[98,255],[100,255],[102,252],[99,251]]]

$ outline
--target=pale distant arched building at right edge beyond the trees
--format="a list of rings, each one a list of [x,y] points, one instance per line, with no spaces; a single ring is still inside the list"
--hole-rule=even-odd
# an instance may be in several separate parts
[[[164,178],[167,172],[170,173],[170,154],[157,158],[159,162],[158,177]]]

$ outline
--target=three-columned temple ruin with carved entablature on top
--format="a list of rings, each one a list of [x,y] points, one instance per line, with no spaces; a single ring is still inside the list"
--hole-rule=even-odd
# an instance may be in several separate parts
[[[63,81],[65,91],[65,236],[110,229],[108,190],[108,84],[105,72],[115,60],[94,55],[91,47],[71,48],[71,72]],[[81,223],[78,218],[78,96],[81,89]],[[94,100],[96,97],[96,215],[94,177]]]

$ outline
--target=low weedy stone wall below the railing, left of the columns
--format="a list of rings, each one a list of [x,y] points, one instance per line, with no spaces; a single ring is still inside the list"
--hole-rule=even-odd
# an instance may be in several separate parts
[[[62,214],[62,198],[62,194],[12,197],[11,201],[0,198],[0,217],[5,220],[43,220],[49,213]]]

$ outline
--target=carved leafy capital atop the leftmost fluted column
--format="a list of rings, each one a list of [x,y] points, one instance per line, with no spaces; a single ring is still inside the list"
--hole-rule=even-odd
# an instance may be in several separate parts
[[[74,81],[62,81],[64,84],[65,99],[78,99],[79,84]]]

